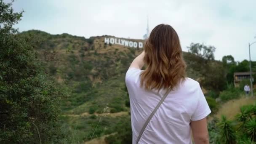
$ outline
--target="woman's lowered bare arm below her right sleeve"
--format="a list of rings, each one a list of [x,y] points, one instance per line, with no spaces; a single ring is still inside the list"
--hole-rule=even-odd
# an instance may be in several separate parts
[[[202,120],[191,121],[190,125],[195,144],[209,144],[206,117]]]

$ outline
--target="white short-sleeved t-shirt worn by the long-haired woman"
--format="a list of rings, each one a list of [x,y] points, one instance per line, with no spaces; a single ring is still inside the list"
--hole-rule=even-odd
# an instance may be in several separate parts
[[[165,91],[145,91],[140,87],[142,70],[130,68],[125,75],[131,103],[133,144],[145,121]],[[139,144],[192,144],[191,120],[201,120],[211,113],[197,81],[186,78],[171,91],[149,121]]]

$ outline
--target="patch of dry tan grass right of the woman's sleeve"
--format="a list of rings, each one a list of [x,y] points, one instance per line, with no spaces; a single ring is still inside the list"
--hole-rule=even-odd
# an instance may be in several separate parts
[[[221,115],[226,115],[227,119],[233,119],[234,116],[240,112],[240,107],[243,105],[248,105],[248,104],[255,104],[256,102],[256,97],[241,97],[240,99],[234,99],[227,101],[226,103],[222,104],[221,107],[219,108],[219,111],[216,113],[215,117],[221,118]]]

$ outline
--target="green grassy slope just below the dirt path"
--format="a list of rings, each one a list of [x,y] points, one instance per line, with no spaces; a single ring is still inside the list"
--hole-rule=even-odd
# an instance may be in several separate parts
[[[91,139],[115,133],[116,125],[124,119],[129,119],[129,117],[129,115],[124,115],[124,113],[122,113],[122,115],[119,114],[115,116],[99,115],[93,119],[90,115],[81,117],[69,117],[62,115],[61,119],[65,121],[64,125],[66,125],[67,129],[71,132],[70,137],[72,139],[72,143],[81,143],[82,141],[90,141]],[[93,137],[91,137],[92,135]]]

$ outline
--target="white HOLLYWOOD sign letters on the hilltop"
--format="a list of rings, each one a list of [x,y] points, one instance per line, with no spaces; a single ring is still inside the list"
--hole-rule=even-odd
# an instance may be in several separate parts
[[[128,47],[131,47],[131,48],[138,48],[138,47],[143,48],[143,43],[142,42],[133,42],[133,41],[124,40],[124,39],[120,39],[120,38],[105,37],[105,43],[124,45],[124,46],[128,46]]]

